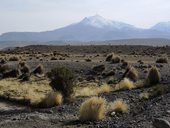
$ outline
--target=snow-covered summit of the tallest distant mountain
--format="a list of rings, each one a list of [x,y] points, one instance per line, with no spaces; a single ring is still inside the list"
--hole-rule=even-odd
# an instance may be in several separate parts
[[[90,16],[84,18],[81,22],[84,25],[90,25],[97,28],[110,28],[110,29],[122,29],[122,28],[134,28],[134,26],[123,23],[105,19],[100,15]]]

